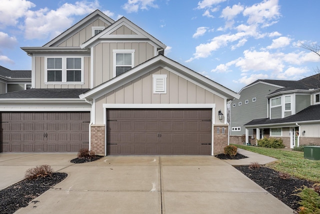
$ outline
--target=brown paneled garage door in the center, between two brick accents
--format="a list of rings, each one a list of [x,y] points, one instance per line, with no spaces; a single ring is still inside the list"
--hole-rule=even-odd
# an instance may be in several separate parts
[[[107,154],[209,155],[210,109],[108,109]]]

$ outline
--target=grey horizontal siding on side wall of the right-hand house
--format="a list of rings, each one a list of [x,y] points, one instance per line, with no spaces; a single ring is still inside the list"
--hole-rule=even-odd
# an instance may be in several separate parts
[[[244,124],[254,119],[266,118],[267,98],[265,96],[276,89],[279,89],[279,87],[264,83],[256,83],[242,89],[239,93],[240,99],[232,100],[230,105],[230,134],[243,135],[245,134]],[[256,98],[256,101],[252,102],[252,98]],[[248,100],[247,104],[245,104],[245,100]],[[240,106],[238,105],[239,102],[241,102]],[[232,107],[233,104],[235,104],[235,107]],[[232,127],[241,127],[241,130],[232,131]],[[252,134],[253,129],[249,129],[249,135]]]

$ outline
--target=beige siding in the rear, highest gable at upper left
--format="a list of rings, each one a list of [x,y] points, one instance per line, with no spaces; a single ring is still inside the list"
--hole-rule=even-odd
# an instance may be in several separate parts
[[[108,27],[106,23],[104,23],[100,19],[96,19],[94,22],[85,26],[80,31],[74,33],[71,37],[61,42],[59,47],[79,47],[81,44],[86,42],[88,39],[92,37],[92,27]]]

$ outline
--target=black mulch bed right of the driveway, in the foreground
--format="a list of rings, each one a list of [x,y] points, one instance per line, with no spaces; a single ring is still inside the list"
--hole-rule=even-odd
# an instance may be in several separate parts
[[[303,185],[307,187],[313,185],[312,182],[294,177],[282,179],[277,171],[265,166],[253,169],[249,166],[235,166],[235,168],[295,211],[299,207],[300,197],[292,195],[296,193],[293,191]]]

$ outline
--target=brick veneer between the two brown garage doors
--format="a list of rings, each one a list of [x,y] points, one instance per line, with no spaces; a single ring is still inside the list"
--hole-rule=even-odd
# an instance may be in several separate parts
[[[104,155],[104,125],[91,125],[91,150]]]

